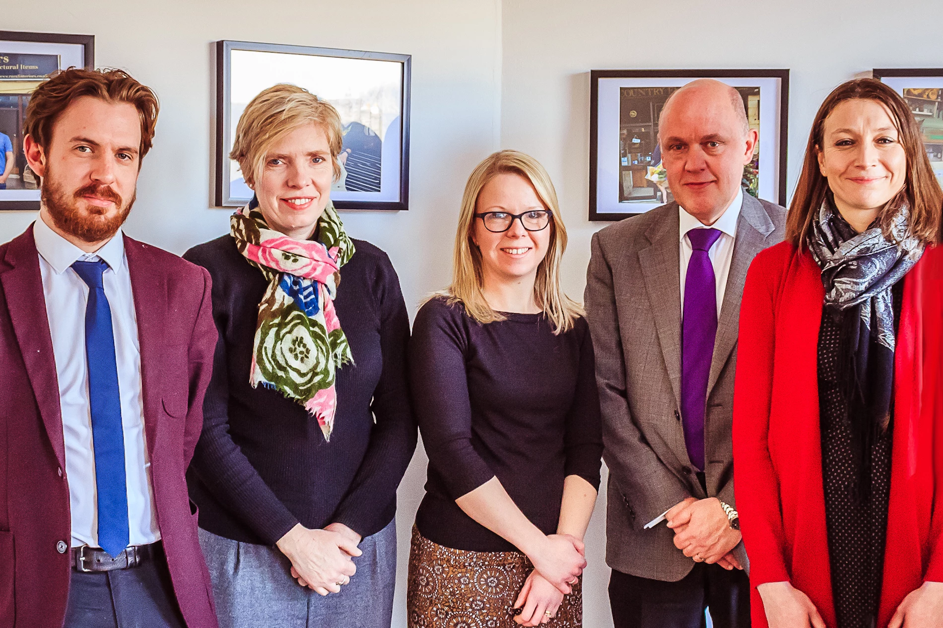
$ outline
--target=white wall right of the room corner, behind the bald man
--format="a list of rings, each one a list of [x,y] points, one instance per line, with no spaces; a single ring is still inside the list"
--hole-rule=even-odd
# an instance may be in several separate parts
[[[872,68],[943,67],[943,3],[904,0],[505,0],[501,146],[537,157],[554,179],[570,248],[563,279],[582,298],[589,239],[589,70],[789,68],[787,190],[825,96]],[[775,199],[773,199],[775,200]],[[604,500],[587,535],[585,625],[612,625]]]

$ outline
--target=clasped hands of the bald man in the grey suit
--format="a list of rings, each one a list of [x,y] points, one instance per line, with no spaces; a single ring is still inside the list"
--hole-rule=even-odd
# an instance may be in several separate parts
[[[673,515],[668,516],[668,527],[674,530],[674,546],[697,562],[719,562],[740,542],[740,532],[730,527],[727,513],[716,497],[696,500],[676,513],[669,513]]]

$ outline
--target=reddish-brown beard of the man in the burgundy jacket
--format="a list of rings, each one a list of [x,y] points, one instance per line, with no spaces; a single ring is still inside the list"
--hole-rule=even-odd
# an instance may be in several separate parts
[[[46,176],[42,177],[43,207],[49,212],[53,223],[56,223],[59,229],[84,242],[101,242],[111,238],[124,224],[137,198],[137,192],[135,192],[124,205],[124,199],[118,192],[109,186],[96,183],[79,188],[70,195],[49,174],[46,171]],[[118,207],[118,213],[109,216],[110,207],[95,207],[88,203],[85,204],[84,209],[80,208],[78,203],[86,194],[112,201],[115,207]]]

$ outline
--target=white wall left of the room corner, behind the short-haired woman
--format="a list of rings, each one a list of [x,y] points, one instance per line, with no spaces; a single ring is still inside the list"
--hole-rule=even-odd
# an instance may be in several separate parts
[[[76,3],[45,0],[3,11],[7,30],[95,35],[98,67],[119,67],[157,91],[155,147],[144,158],[133,238],[177,254],[229,230],[212,204],[215,128],[213,41],[290,43],[412,55],[410,196],[405,212],[343,212],[355,238],[389,253],[410,311],[451,274],[465,179],[500,138],[500,0],[193,0]],[[0,242],[35,212],[0,212]],[[405,625],[409,532],[425,482],[422,448],[400,489],[400,562],[394,626]]]

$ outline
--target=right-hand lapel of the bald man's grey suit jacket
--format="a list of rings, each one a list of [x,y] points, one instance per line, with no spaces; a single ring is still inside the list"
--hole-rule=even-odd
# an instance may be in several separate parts
[[[727,274],[727,287],[723,292],[723,305],[717,323],[717,338],[714,340],[714,355],[711,358],[710,375],[707,378],[707,395],[710,395],[720,377],[723,366],[727,363],[736,346],[736,336],[740,324],[740,300],[743,297],[743,284],[747,278],[753,257],[767,247],[767,237],[773,232],[774,225],[763,205],[753,196],[743,193],[743,207],[736,221],[736,240],[734,256]]]

